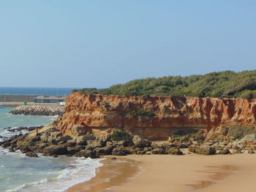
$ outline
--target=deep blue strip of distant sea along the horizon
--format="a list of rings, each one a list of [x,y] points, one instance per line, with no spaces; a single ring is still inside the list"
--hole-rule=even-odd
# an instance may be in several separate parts
[[[64,96],[69,95],[72,90],[78,88],[0,88],[0,95],[50,95]]]

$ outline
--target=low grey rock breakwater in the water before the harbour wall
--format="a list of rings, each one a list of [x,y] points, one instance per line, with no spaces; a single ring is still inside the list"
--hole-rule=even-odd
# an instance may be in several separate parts
[[[12,115],[46,115],[56,116],[64,113],[64,107],[45,106],[45,105],[23,105],[15,107],[10,114]]]

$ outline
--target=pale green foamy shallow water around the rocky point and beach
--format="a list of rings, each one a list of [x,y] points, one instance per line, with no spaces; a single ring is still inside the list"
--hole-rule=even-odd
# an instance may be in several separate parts
[[[14,133],[6,127],[41,126],[55,117],[10,115],[11,107],[0,109],[0,135],[11,137]],[[19,134],[19,133],[16,133]],[[10,153],[0,147],[0,191],[59,192],[72,185],[90,180],[95,169],[102,164],[90,158],[59,158],[39,155],[29,158],[19,151]]]

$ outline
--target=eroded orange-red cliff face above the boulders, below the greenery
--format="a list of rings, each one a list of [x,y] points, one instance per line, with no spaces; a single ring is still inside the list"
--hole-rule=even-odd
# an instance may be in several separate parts
[[[154,117],[131,114],[139,110],[154,112]],[[255,127],[256,100],[72,93],[67,97],[64,115],[54,126],[72,137],[91,131],[110,133],[116,128],[152,140],[167,139],[186,128],[215,133],[223,131],[223,127]]]

